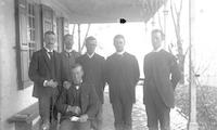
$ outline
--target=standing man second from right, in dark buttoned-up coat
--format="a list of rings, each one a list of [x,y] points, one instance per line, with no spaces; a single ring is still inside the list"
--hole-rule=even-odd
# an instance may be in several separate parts
[[[136,102],[135,88],[140,77],[136,56],[125,52],[125,38],[114,37],[116,53],[106,60],[106,81],[113,106],[116,130],[131,130],[131,110]]]

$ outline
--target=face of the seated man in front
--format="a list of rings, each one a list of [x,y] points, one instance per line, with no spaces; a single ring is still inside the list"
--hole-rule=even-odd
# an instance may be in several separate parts
[[[81,66],[77,66],[75,68],[72,69],[72,76],[73,76],[73,81],[74,83],[80,83],[80,81],[82,80],[82,67]]]

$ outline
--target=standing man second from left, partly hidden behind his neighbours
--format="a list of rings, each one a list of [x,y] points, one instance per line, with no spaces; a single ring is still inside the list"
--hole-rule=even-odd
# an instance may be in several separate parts
[[[63,38],[64,43],[64,51],[61,53],[61,60],[62,60],[62,81],[63,87],[65,89],[68,89],[71,87],[72,82],[72,76],[71,76],[71,67],[75,64],[76,58],[80,55],[78,52],[73,50],[73,36],[72,35],[65,35]]]

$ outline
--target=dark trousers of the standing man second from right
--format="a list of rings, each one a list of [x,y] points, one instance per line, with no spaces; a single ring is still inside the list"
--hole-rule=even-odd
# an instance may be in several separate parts
[[[123,98],[117,98],[112,102],[115,117],[115,130],[131,130],[132,103],[128,103]]]

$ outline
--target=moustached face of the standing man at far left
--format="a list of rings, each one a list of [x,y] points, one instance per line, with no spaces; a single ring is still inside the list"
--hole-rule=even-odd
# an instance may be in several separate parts
[[[53,50],[55,46],[55,35],[46,35],[44,36],[46,48]]]

